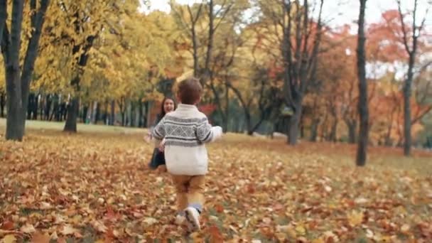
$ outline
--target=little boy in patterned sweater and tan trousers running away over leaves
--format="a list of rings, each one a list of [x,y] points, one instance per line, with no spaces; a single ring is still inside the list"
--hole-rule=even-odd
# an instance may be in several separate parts
[[[179,215],[184,215],[188,228],[200,229],[200,213],[204,204],[205,174],[208,157],[205,143],[222,136],[220,126],[211,126],[207,117],[195,106],[200,102],[202,86],[196,78],[178,85],[180,102],[174,112],[153,129],[156,139],[165,138],[165,159],[177,193]]]

